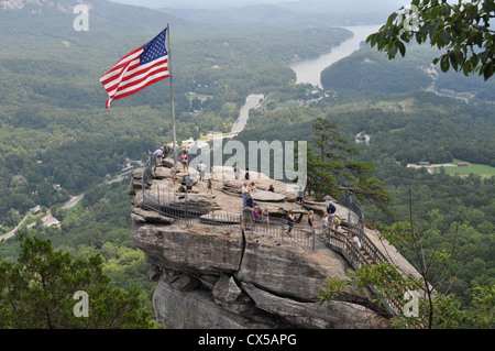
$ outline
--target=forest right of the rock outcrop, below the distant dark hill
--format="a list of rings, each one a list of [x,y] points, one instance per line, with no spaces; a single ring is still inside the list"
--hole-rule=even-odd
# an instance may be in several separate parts
[[[427,238],[427,250],[449,246],[457,238],[458,261],[449,272],[453,283],[446,283],[442,289],[469,304],[476,286],[495,284],[495,176],[450,176],[444,168],[430,174],[426,168],[406,165],[425,161],[449,163],[460,158],[493,166],[495,109],[421,90],[404,94],[338,91],[338,98],[329,94],[309,108],[252,110],[239,139],[244,143],[250,140],[311,141],[315,132],[311,125],[321,116],[336,123],[340,135],[350,143],[364,131],[370,143],[358,144],[356,160],[375,165],[376,176],[387,185],[394,198],[393,218],[365,206],[366,221],[372,228],[409,222],[413,210],[416,228]],[[297,89],[285,90],[267,99],[276,106],[299,94]],[[413,255],[405,254],[414,261]]]

